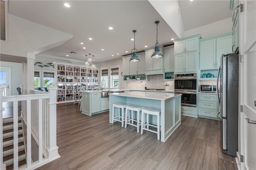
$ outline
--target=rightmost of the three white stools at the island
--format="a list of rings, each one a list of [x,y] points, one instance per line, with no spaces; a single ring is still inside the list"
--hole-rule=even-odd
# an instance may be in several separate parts
[[[157,140],[160,140],[160,113],[161,113],[160,109],[153,109],[149,107],[145,107],[141,109],[141,130],[140,130],[141,134],[143,134],[143,130],[157,133]],[[146,114],[146,121],[145,121],[144,114]],[[148,115],[157,116],[157,125],[153,125],[149,123]],[[153,131],[149,129],[149,126],[156,127],[157,131]]]

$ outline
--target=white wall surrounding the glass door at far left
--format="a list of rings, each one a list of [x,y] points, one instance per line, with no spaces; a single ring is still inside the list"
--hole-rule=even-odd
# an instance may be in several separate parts
[[[12,80],[11,80],[12,90],[10,95],[18,95],[18,91],[16,88],[22,85],[23,64],[1,61],[0,66],[12,68]]]

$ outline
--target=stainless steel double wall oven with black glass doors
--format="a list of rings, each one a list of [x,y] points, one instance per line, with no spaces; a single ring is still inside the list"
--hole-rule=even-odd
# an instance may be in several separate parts
[[[174,91],[175,93],[182,94],[182,106],[196,107],[196,88],[196,73],[174,75]]]

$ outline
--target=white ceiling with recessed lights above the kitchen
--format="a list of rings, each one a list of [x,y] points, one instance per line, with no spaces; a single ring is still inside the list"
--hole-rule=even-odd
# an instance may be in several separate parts
[[[71,7],[64,7],[64,2],[68,2]],[[185,30],[231,17],[228,10],[229,1],[226,0],[182,0],[179,5]],[[170,45],[173,43],[171,38],[178,39],[147,0],[11,0],[8,12],[74,36],[59,47],[37,54],[36,60],[52,56],[71,61],[85,61],[85,55],[88,53],[95,55],[95,63],[117,59],[130,54],[133,49],[134,41],[130,39],[134,37],[134,29],[137,30],[136,49],[143,51],[145,45],[154,47],[156,43],[156,20],[160,21],[160,44]],[[109,30],[110,26],[114,29]],[[89,40],[89,37],[93,40]],[[70,54],[71,51],[77,53]]]

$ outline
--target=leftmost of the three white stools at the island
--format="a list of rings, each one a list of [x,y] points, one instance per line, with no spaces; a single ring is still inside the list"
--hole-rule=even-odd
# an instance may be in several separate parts
[[[122,123],[122,127],[124,127],[124,109],[126,106],[128,106],[129,104],[124,104],[124,103],[114,103],[112,104],[112,121],[111,123],[114,123],[115,121],[119,121]],[[118,115],[114,115],[114,109],[118,108]],[[120,109],[121,109],[121,113],[120,113]]]

